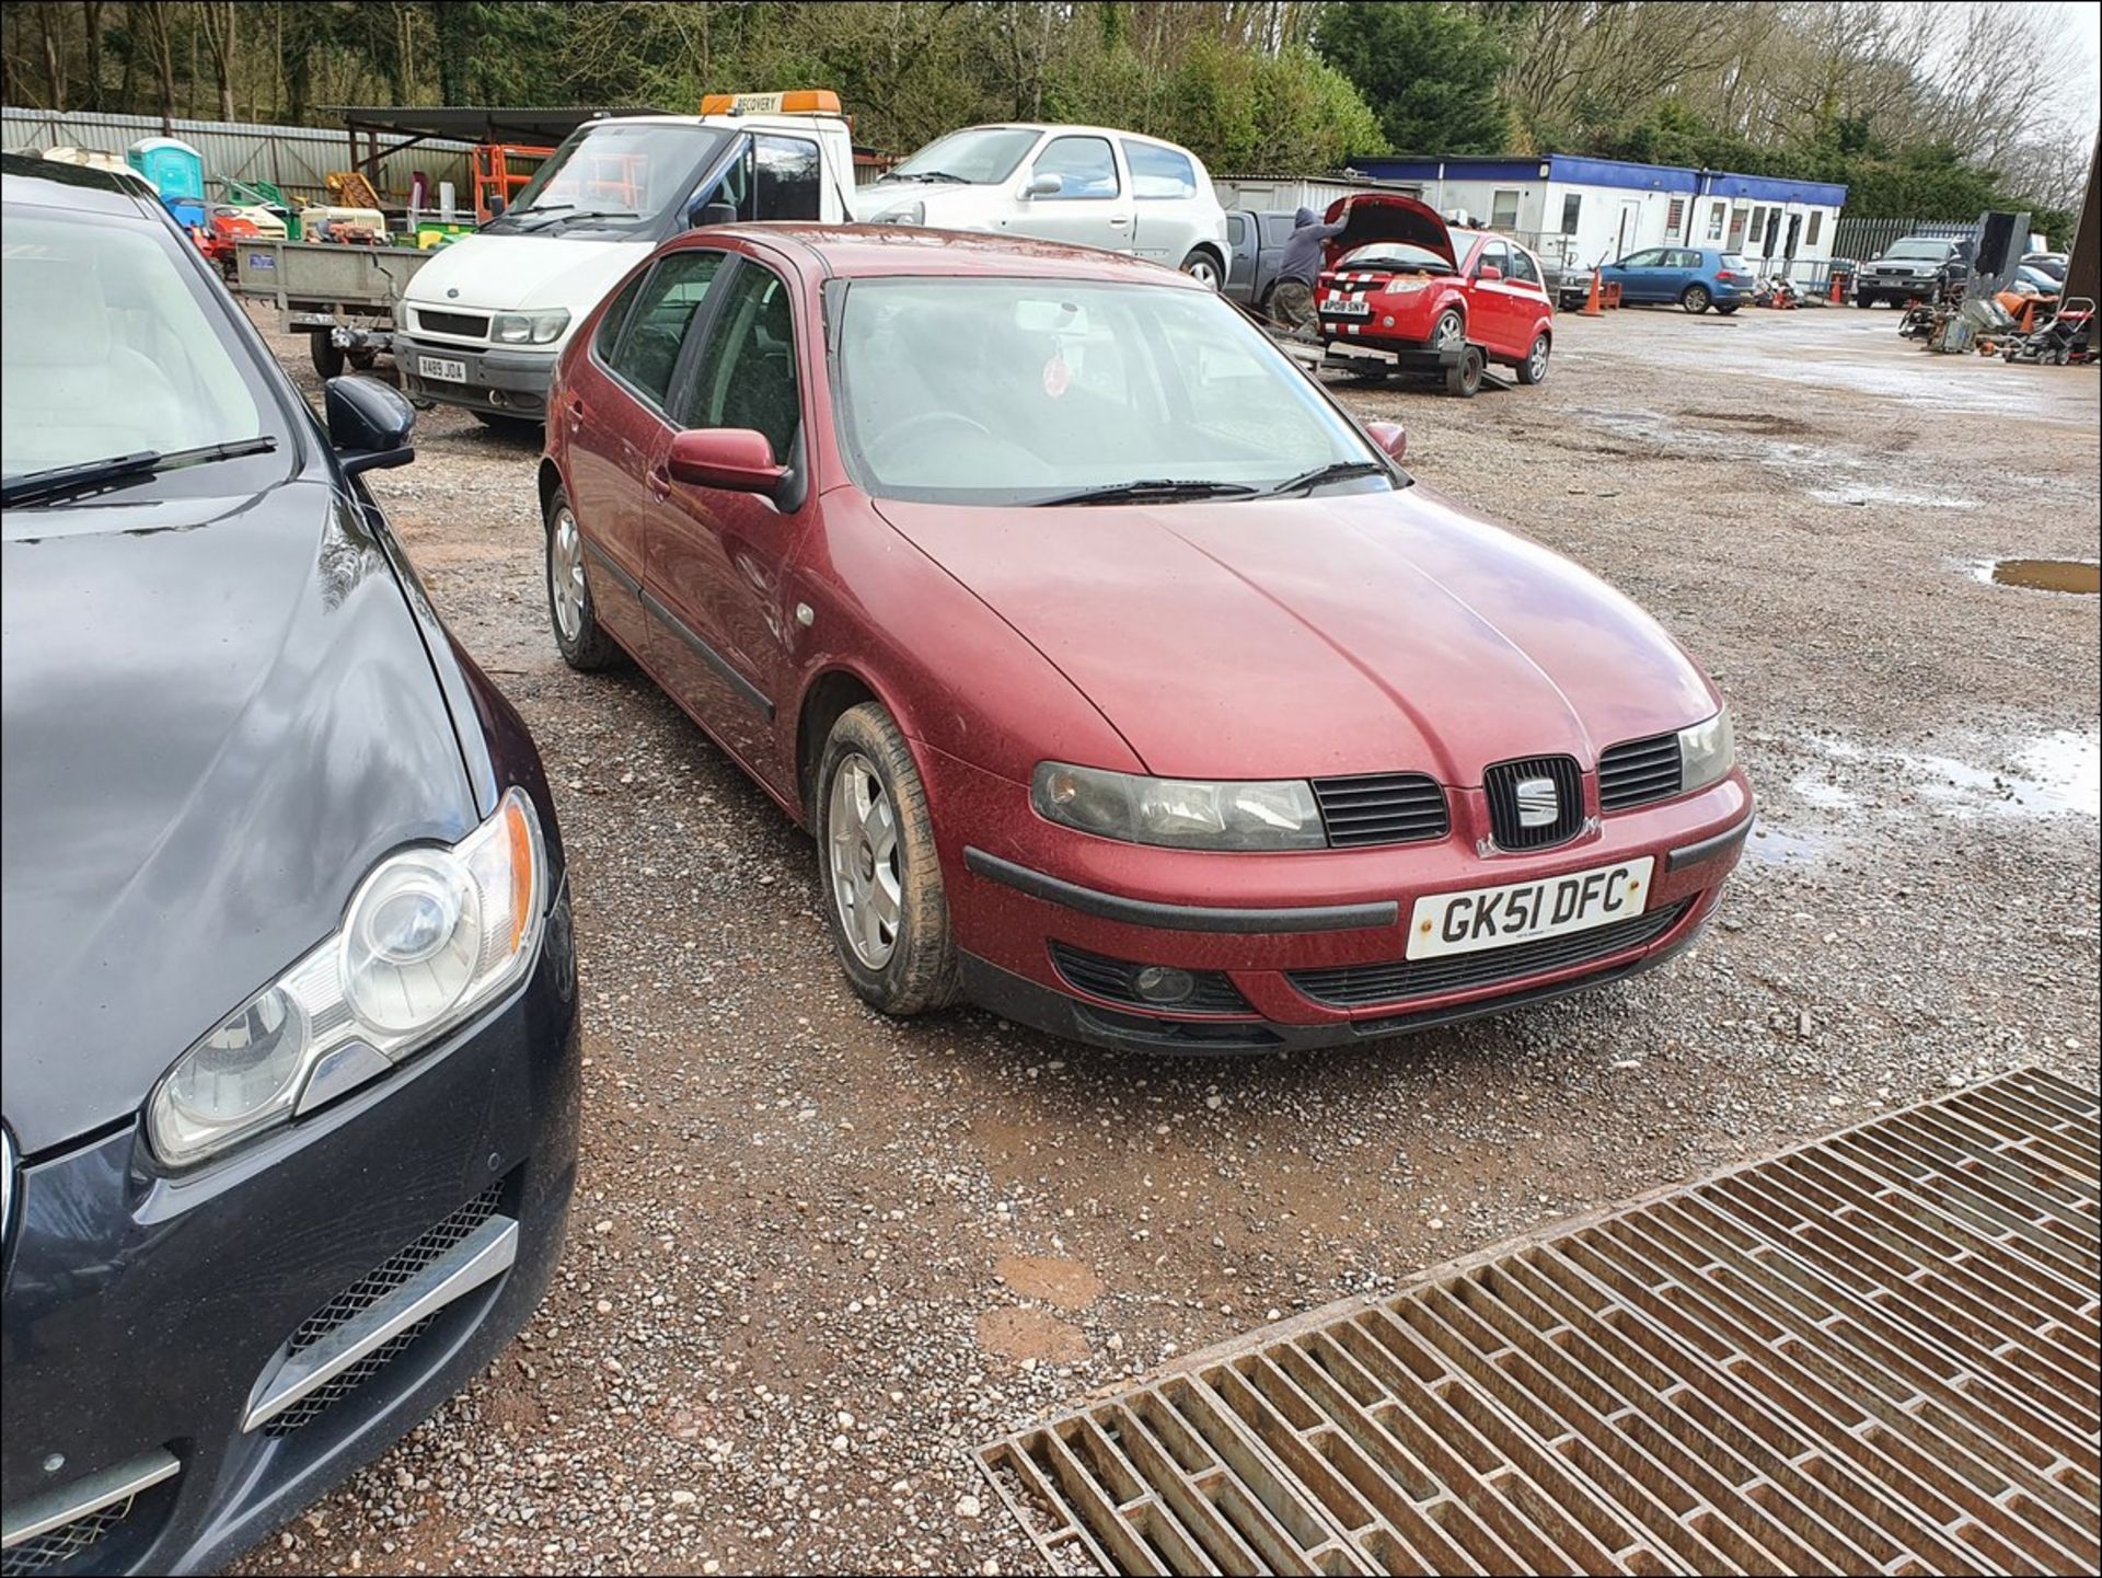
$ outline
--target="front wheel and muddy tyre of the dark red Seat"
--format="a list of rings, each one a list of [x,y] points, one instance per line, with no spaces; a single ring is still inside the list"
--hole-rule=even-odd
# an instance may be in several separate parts
[[[956,943],[927,790],[879,702],[832,725],[813,811],[824,918],[853,990],[893,1017],[950,1006],[961,990]]]

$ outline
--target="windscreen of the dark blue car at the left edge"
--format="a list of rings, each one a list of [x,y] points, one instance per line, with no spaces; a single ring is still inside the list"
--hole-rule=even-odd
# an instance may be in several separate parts
[[[277,435],[235,326],[158,223],[11,206],[0,248],[0,466],[13,481]]]

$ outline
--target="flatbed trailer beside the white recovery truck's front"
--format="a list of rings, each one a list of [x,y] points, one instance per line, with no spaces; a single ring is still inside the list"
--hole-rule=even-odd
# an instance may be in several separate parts
[[[431,252],[345,242],[242,242],[233,292],[277,309],[277,328],[305,334],[324,378],[370,368],[393,349],[401,292]]]

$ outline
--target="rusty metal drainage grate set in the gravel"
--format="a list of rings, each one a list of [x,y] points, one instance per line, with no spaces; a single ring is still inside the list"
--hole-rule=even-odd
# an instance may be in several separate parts
[[[2102,1124],[2024,1070],[980,1452],[1059,1570],[2096,1572]]]

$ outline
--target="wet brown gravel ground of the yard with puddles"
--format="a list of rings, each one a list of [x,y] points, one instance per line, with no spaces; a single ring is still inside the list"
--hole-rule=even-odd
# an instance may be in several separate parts
[[[2091,1084],[2096,601],[1976,565],[2098,555],[2094,370],[1843,309],[1558,334],[1541,389],[1345,399],[1711,666],[1766,828],[1658,973],[1225,1065],[866,1013],[809,840],[555,658],[532,445],[427,414],[372,487],[557,786],[582,1181],[519,1343],[238,1570],[1040,1570],[967,1452],[1083,1393],[2014,1063]]]

